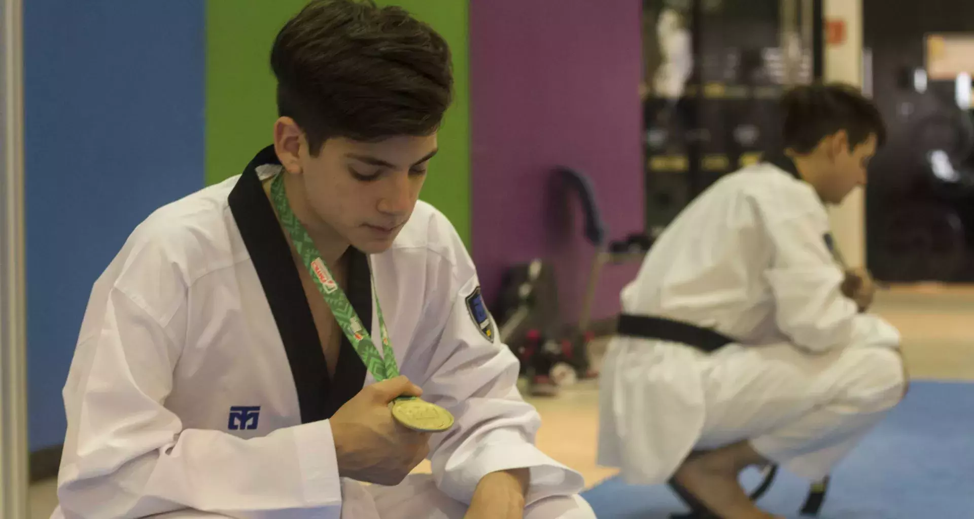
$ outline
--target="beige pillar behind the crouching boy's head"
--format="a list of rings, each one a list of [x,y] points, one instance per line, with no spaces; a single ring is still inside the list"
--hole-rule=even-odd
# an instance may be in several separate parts
[[[862,86],[862,0],[824,0],[825,19],[845,22],[845,41],[825,45],[825,81]],[[865,197],[856,189],[830,211],[832,231],[849,266],[865,265]]]

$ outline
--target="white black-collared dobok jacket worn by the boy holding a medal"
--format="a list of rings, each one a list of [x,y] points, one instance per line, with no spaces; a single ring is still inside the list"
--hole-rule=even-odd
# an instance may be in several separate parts
[[[63,389],[56,517],[339,517],[328,418],[375,381],[344,337],[329,380],[261,187],[278,171],[269,147],[158,209],[94,283]],[[529,502],[579,492],[581,475],[533,445],[539,415],[446,217],[420,202],[390,250],[354,251],[347,294],[379,337],[370,273],[401,373],[456,417],[431,438],[439,488],[468,502],[485,474],[531,467]]]

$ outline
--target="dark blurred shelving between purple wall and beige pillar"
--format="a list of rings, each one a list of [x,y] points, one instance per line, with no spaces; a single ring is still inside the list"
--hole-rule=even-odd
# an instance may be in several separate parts
[[[777,100],[822,76],[820,0],[643,1],[646,231],[780,146]]]

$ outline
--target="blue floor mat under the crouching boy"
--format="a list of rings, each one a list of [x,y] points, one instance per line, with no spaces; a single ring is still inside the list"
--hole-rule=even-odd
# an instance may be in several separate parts
[[[754,488],[757,471],[745,473]],[[800,518],[808,483],[779,471],[759,501]],[[599,519],[663,519],[685,511],[665,486],[618,478],[583,494]],[[974,384],[914,382],[907,398],[840,463],[821,519],[974,519]]]

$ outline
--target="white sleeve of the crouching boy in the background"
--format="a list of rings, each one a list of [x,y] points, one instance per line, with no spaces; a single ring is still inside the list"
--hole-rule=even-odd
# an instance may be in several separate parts
[[[764,225],[771,243],[766,279],[778,328],[811,352],[850,344],[858,309],[842,293],[845,275],[826,246],[827,221],[796,215],[766,218]]]

